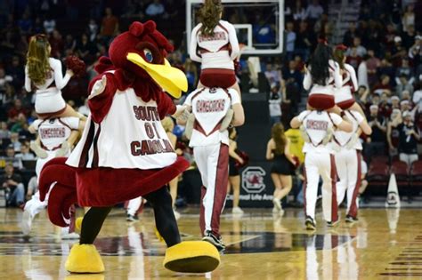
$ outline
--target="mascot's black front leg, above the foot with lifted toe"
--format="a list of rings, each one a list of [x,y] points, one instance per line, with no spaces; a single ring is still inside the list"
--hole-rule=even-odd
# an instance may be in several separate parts
[[[154,208],[155,224],[167,247],[179,244],[180,234],[172,208],[172,196],[167,188],[160,188],[145,197]],[[85,218],[84,218],[85,220]]]

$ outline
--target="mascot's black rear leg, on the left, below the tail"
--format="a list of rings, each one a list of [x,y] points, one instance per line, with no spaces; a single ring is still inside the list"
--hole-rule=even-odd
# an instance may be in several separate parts
[[[92,207],[85,213],[79,244],[93,244],[111,209],[112,207]]]

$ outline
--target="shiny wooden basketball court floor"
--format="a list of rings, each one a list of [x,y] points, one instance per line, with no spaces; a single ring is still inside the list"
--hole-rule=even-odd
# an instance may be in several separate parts
[[[178,221],[183,239],[199,238],[198,209],[185,210]],[[212,274],[175,274],[162,267],[165,245],[154,234],[147,209],[141,221],[127,223],[116,209],[96,241],[103,275],[72,275],[64,262],[72,242],[53,235],[41,213],[32,237],[20,234],[21,212],[0,209],[0,279],[422,279],[422,219],[419,210],[363,209],[360,221],[342,221],[329,229],[317,216],[314,234],[304,230],[302,210],[247,209],[222,217],[228,244]],[[344,217],[344,213],[343,217]]]

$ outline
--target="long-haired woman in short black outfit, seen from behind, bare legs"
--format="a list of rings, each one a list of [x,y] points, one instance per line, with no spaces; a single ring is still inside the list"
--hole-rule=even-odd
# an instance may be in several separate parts
[[[284,134],[283,124],[272,126],[272,139],[268,141],[266,159],[272,160],[271,178],[274,183],[273,213],[283,214],[280,200],[287,196],[292,188],[292,175],[295,174],[296,161],[289,152],[290,141]]]

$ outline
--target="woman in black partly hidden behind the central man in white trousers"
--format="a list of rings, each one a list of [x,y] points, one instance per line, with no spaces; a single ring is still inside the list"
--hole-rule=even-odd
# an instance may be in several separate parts
[[[236,129],[229,129],[229,185],[227,186],[227,193],[230,194],[231,188],[233,188],[233,208],[231,212],[233,214],[242,214],[243,210],[239,207],[239,196],[240,196],[240,173],[239,168],[236,166],[236,161],[239,164],[244,164],[244,160],[241,156],[236,153],[238,143],[236,142],[237,132]]]

